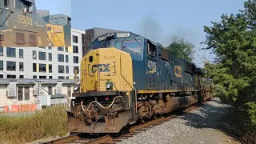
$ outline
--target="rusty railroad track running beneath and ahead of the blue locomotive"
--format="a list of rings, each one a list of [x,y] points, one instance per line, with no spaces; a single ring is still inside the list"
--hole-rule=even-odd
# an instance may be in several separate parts
[[[209,101],[203,102],[201,105],[206,104]],[[186,110],[178,110],[175,111],[173,114],[157,118],[154,120],[151,120],[146,123],[142,123],[136,126],[130,127],[129,131],[125,132],[124,134],[121,134],[120,136],[114,138],[113,136],[110,136],[110,134],[98,136],[95,138],[82,138],[82,134],[72,134],[63,138],[58,138],[50,142],[45,142],[46,144],[60,144],[60,143],[79,143],[79,144],[114,144],[117,142],[122,142],[123,139],[133,137],[136,134],[142,133],[143,131],[149,130],[154,126],[161,125],[163,122],[170,121],[170,119],[178,118],[178,116],[181,116],[182,114],[186,114],[190,112],[191,110],[196,110],[201,106],[190,106]]]

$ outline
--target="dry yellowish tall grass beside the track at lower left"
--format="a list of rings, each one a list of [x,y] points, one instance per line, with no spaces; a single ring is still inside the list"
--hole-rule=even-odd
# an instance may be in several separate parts
[[[68,133],[66,111],[62,106],[51,106],[35,114],[10,116],[0,114],[0,142],[25,143]]]

